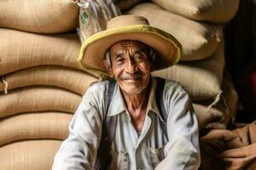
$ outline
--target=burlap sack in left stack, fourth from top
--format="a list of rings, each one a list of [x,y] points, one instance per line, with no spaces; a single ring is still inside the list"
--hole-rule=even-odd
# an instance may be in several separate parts
[[[61,88],[18,88],[0,94],[0,118],[34,111],[63,111],[74,113],[81,96]]]

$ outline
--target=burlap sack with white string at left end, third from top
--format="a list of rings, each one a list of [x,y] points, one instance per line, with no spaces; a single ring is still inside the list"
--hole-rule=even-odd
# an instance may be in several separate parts
[[[65,88],[76,94],[83,95],[90,83],[96,82],[96,77],[62,66],[38,66],[22,71],[12,72],[2,77],[0,91],[23,88],[32,85],[49,85]]]

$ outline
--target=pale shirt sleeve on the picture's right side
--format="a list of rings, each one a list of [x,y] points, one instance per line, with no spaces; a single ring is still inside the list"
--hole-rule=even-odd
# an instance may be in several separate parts
[[[173,84],[172,84],[173,86]],[[200,166],[198,122],[186,91],[176,83],[164,91],[169,142],[165,147],[166,158],[156,167],[158,170],[195,170]]]

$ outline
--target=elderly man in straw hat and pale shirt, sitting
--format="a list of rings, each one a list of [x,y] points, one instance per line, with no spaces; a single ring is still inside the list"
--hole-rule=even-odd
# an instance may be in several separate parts
[[[53,169],[197,169],[198,124],[184,89],[150,72],[177,62],[172,35],[136,15],[108,22],[84,42],[84,67],[114,81],[93,84],[69,126]]]

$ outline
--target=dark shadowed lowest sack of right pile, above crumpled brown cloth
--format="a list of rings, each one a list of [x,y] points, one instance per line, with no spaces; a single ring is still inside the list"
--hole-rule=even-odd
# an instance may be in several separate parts
[[[223,93],[212,104],[212,99],[193,103],[195,114],[201,128],[226,128],[229,122],[235,122],[238,95],[230,74],[224,70]]]

